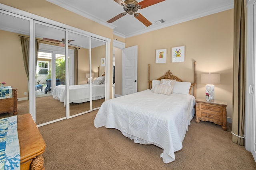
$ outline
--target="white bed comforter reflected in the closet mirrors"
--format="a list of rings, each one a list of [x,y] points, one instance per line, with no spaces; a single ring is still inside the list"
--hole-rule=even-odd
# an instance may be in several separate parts
[[[59,85],[52,91],[52,96],[66,105],[65,85]],[[92,100],[105,97],[105,84],[92,84]],[[90,101],[90,84],[69,86],[69,103],[82,103]]]

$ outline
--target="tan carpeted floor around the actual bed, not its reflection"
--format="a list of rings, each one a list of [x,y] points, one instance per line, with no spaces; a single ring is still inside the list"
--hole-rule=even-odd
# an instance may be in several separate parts
[[[135,144],[116,129],[95,128],[97,110],[39,127],[46,142],[46,170],[255,170],[250,152],[211,122],[188,127],[176,160],[165,164],[162,149]]]

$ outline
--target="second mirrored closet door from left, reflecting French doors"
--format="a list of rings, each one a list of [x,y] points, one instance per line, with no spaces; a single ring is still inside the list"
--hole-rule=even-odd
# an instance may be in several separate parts
[[[66,118],[65,30],[36,23],[36,124]],[[55,89],[60,87],[59,90]],[[57,93],[58,92],[58,93]]]

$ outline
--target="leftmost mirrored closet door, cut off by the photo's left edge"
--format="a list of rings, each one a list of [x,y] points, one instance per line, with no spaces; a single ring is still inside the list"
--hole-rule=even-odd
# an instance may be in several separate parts
[[[5,87],[17,88],[20,99],[17,101],[18,114],[29,113],[30,22],[32,20],[0,11],[0,82],[5,82]],[[2,113],[0,118],[12,115],[13,113]]]

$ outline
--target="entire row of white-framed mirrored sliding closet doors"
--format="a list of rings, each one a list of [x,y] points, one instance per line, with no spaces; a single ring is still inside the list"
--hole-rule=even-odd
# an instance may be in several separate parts
[[[18,114],[31,113],[39,127],[98,109],[110,39],[24,16],[0,10],[0,82],[18,88]]]

